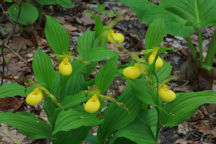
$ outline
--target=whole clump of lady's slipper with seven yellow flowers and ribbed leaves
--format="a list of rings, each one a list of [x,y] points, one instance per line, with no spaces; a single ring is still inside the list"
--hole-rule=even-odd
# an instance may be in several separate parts
[[[38,49],[32,62],[36,81],[26,83],[26,87],[17,83],[0,87],[0,98],[27,96],[28,105],[43,105],[48,119],[28,112],[0,112],[0,123],[33,139],[48,138],[54,144],[91,143],[89,139],[94,144],[157,144],[163,126],[176,126],[200,105],[216,103],[212,91],[176,93],[167,88],[173,79],[172,66],[159,55],[166,57],[173,48],[161,45],[166,34],[162,19],[149,25],[145,49],[131,52],[124,48],[123,34],[113,31],[120,16],[104,26],[97,15],[87,12],[93,15],[96,27],[78,38],[78,54],[69,51],[67,31],[46,16],[45,35],[55,53],[52,57],[57,58],[51,59]],[[107,48],[107,40],[128,54],[126,64],[119,64],[121,57]],[[100,61],[105,64],[98,69]],[[56,64],[59,68],[55,69]],[[125,81],[126,88],[112,95],[108,89],[117,77]],[[91,134],[94,127],[98,127],[96,136]]]

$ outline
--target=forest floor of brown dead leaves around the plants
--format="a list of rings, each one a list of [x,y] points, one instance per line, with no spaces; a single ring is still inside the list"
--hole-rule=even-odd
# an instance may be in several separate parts
[[[157,3],[157,0],[154,0]],[[115,0],[105,0],[107,11],[121,11],[124,19],[114,27],[116,32],[121,32],[125,36],[124,46],[130,51],[141,51],[145,49],[145,33],[148,26],[142,23],[134,12],[123,4]],[[7,10],[9,5],[2,3],[2,7]],[[44,8],[43,13],[54,16],[70,35],[70,50],[76,51],[78,37],[87,29],[94,29],[94,20],[90,14],[85,13],[85,9],[96,12],[96,0],[81,1],[76,0],[73,9],[65,9],[59,6]],[[108,24],[113,17],[100,15],[103,23]],[[0,47],[3,40],[8,37],[13,29],[13,25],[8,17],[0,10]],[[46,53],[52,53],[44,37],[44,21],[42,24],[36,22],[31,26],[24,26],[22,32],[17,27],[9,40],[8,48],[5,48],[6,59],[4,83],[17,82],[24,85],[25,82],[34,80],[32,72],[32,59],[34,52],[40,48]],[[209,40],[213,35],[214,28],[203,29],[204,56],[206,55]],[[198,36],[191,36],[193,44],[198,49]],[[192,70],[190,50],[187,41],[182,37],[166,35],[162,45],[173,47],[174,51],[169,51],[164,59],[173,66],[172,74],[175,79],[171,81],[171,88],[175,92],[191,92],[203,89],[216,90],[216,85],[203,77],[202,73],[195,75]],[[109,48],[114,49],[112,45]],[[123,54],[124,55],[124,54]],[[1,55],[2,57],[2,55]],[[127,62],[127,55],[119,60],[120,64]],[[2,71],[2,58],[0,58],[0,71]],[[1,77],[0,77],[1,78]],[[107,93],[118,96],[125,88],[121,79],[115,79]],[[42,106],[29,107],[21,97],[0,99],[0,111],[27,111],[46,118]],[[0,144],[30,144],[48,143],[47,140],[32,140],[16,129],[4,124],[0,124]],[[164,127],[161,130],[159,143],[161,144],[213,144],[216,143],[216,106],[201,106],[188,121],[176,127]]]

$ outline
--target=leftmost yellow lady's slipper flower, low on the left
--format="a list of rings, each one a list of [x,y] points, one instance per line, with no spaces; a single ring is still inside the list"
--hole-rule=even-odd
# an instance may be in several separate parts
[[[30,106],[39,104],[43,99],[43,93],[40,89],[35,88],[28,96],[26,97],[26,103]]]

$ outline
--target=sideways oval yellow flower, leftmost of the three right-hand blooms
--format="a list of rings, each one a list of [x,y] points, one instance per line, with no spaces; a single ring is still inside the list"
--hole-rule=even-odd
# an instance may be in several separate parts
[[[126,67],[122,73],[126,78],[136,79],[141,75],[140,66],[135,64],[134,66]]]

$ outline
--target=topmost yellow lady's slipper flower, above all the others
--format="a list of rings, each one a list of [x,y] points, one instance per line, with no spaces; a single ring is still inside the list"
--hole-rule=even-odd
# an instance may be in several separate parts
[[[124,36],[121,33],[108,32],[107,39],[112,44],[121,44],[124,41]]]

